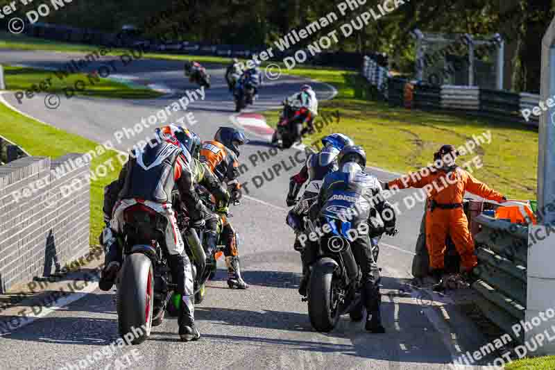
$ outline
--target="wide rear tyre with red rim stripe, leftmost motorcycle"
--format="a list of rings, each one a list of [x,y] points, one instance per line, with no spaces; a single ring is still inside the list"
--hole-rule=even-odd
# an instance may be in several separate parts
[[[117,289],[119,335],[133,333],[131,343],[141,344],[151,335],[154,303],[154,269],[151,259],[141,253],[126,258]],[[137,330],[142,333],[135,335]]]

